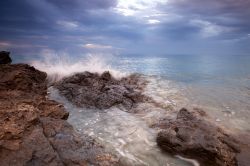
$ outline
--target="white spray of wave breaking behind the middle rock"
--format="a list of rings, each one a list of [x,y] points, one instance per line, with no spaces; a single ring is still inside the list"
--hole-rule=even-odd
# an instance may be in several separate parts
[[[44,53],[41,60],[32,61],[31,65],[46,72],[51,82],[59,81],[64,77],[84,71],[99,74],[109,71],[117,79],[128,75],[113,68],[109,64],[112,59],[114,59],[112,55],[87,54],[76,59],[67,54]]]

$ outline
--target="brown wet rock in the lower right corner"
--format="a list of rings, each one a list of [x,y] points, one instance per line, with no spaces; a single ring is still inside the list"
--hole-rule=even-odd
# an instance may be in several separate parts
[[[250,160],[242,154],[249,154],[249,145],[244,145],[248,150],[241,151],[240,140],[205,120],[199,112],[181,109],[175,121],[159,126],[163,130],[157,136],[157,144],[169,153],[197,159],[207,166],[237,166],[243,163],[242,158],[245,163]]]

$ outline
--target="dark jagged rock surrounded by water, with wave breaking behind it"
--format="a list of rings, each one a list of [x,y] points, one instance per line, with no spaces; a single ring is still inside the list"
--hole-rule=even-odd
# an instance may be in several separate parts
[[[79,107],[107,109],[122,105],[131,109],[134,104],[147,98],[142,94],[145,85],[138,75],[116,80],[106,71],[101,75],[78,73],[57,82],[55,87]]]

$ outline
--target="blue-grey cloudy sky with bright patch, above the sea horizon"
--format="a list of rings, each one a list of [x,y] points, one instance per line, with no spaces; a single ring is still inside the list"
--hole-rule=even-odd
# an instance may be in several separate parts
[[[250,0],[1,0],[0,49],[249,54]]]

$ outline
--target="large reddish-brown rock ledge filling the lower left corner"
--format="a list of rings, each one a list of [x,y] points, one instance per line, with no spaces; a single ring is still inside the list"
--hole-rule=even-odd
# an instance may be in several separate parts
[[[0,165],[117,165],[69,114],[49,100],[46,73],[24,64],[0,65]]]

